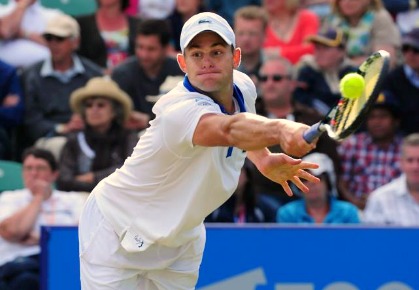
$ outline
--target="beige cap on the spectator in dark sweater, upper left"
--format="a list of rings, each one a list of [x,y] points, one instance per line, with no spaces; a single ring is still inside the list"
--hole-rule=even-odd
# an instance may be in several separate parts
[[[52,34],[60,37],[78,37],[80,28],[73,17],[66,14],[60,14],[48,21],[43,34]]]

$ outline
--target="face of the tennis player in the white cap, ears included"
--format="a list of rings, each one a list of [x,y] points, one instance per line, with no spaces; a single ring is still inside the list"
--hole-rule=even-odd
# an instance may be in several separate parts
[[[192,39],[183,55],[178,55],[178,62],[195,88],[222,97],[232,90],[233,69],[240,64],[240,50],[233,51],[214,32],[202,32]]]

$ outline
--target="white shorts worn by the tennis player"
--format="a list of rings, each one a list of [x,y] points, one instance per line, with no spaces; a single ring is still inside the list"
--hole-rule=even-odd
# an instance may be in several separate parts
[[[82,290],[190,290],[195,289],[205,247],[200,239],[178,248],[158,244],[128,253],[104,219],[91,195],[79,225]]]

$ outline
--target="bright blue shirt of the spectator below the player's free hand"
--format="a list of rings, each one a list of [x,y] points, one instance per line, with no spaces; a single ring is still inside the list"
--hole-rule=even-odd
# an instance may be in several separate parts
[[[314,219],[307,213],[304,199],[287,203],[279,208],[276,216],[279,223],[314,224]],[[358,209],[353,204],[330,199],[330,211],[323,220],[324,224],[357,224],[360,223]]]

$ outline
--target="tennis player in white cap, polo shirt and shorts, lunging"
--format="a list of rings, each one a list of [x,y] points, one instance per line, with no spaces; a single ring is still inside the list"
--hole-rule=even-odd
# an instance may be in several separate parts
[[[289,194],[313,145],[308,126],[255,115],[256,90],[235,70],[240,49],[229,24],[201,13],[184,25],[178,56],[186,73],[153,108],[156,118],[124,165],[93,190],[80,221],[83,290],[194,289],[205,245],[204,218],[237,186],[247,157]],[[106,158],[106,156],[104,156]]]

